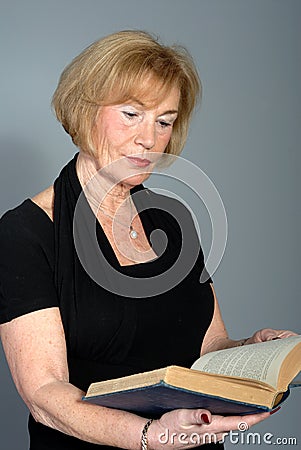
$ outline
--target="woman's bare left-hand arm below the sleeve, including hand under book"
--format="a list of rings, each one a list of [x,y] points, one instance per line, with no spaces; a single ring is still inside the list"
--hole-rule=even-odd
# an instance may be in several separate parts
[[[118,446],[132,450],[141,448],[140,439],[145,418],[87,404],[83,392],[68,382],[66,346],[57,307],[20,316],[0,328],[3,347],[16,387],[38,422],[87,442]],[[269,413],[246,417],[212,416],[209,411],[175,410],[155,420],[149,430],[149,448],[184,449],[181,442],[160,443],[160,434],[198,433],[205,437],[237,430],[244,420],[249,426],[267,418]]]

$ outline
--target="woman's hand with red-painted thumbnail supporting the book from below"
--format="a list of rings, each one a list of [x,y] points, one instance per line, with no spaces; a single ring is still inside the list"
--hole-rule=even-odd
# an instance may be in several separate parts
[[[151,450],[180,450],[222,441],[230,430],[245,429],[268,418],[270,413],[246,416],[212,415],[206,409],[177,409],[155,420],[148,430]]]

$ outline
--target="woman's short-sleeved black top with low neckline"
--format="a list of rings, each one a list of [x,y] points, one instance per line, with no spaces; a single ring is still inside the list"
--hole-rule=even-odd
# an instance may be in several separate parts
[[[75,163],[70,167],[79,189]],[[148,201],[149,197],[155,198],[156,204],[163,197],[142,186],[137,190],[147,192]],[[175,202],[164,197],[166,201]],[[180,211],[184,209],[187,215],[181,205]],[[140,217],[148,239],[155,228],[167,235],[167,248],[157,259],[121,267],[99,224],[97,239],[107,261],[117,271],[128,277],[153,277],[164,273],[177,260],[181,247],[179,229],[175,220],[161,209],[143,211]],[[2,217],[0,323],[43,308],[57,306],[62,312],[60,289],[55,283],[54,229],[46,213],[29,199]],[[199,282],[203,267],[200,249],[194,267],[179,284],[158,295],[135,298],[102,288],[78,264],[81,282],[74,298],[69,299],[67,307],[64,304],[72,313],[71,324],[63,320],[70,382],[86,391],[95,381],[171,364],[190,367],[199,357],[214,308],[211,280]],[[63,435],[37,424],[32,417],[29,431],[31,450],[107,448]]]

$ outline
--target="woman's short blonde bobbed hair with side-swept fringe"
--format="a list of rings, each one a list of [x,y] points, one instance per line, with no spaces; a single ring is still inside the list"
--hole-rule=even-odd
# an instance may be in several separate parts
[[[179,113],[165,153],[179,155],[201,82],[185,48],[164,46],[144,31],[120,31],[86,48],[64,69],[52,106],[74,144],[94,155],[92,131],[100,106],[145,96],[158,103],[173,87],[180,91]]]

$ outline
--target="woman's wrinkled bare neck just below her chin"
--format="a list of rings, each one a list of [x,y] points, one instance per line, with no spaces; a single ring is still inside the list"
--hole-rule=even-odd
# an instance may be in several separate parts
[[[76,171],[85,195],[94,208],[115,213],[121,206],[128,204],[130,186],[114,181],[101,171],[96,158],[80,152],[76,162]]]

